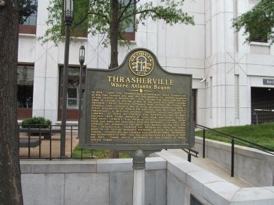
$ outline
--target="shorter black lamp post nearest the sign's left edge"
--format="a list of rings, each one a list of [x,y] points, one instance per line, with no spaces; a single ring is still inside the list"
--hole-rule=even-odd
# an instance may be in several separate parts
[[[80,74],[79,74],[79,107],[78,107],[78,126],[80,126],[80,118],[82,115],[82,73],[83,73],[83,64],[85,61],[85,47],[80,46],[79,49],[79,63],[80,63]],[[79,136],[79,127],[78,127],[78,137]]]

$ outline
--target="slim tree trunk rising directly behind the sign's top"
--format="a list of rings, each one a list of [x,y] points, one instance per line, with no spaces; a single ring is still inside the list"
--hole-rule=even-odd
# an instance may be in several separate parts
[[[110,68],[118,65],[118,38],[119,38],[119,1],[112,0],[112,21],[110,23]]]

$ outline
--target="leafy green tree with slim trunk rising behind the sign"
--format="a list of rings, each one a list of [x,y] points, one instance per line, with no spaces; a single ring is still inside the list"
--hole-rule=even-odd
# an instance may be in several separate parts
[[[133,26],[138,29],[139,23],[151,17],[153,20],[162,19],[169,25],[184,23],[194,25],[192,16],[182,10],[184,0],[161,0],[159,5],[153,5],[152,1],[140,3],[136,0],[77,0],[74,1],[75,20],[72,32],[83,29],[92,35],[101,33],[104,35],[102,43],[110,44],[110,68],[118,64],[118,44],[125,40],[123,34],[126,29]],[[49,5],[49,28],[45,36],[39,39],[42,42],[53,41],[58,44],[64,33],[62,18],[62,0],[51,0]]]

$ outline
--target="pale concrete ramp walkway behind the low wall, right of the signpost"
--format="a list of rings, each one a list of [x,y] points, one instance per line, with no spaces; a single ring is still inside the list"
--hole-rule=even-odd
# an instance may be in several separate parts
[[[180,149],[174,149],[174,150],[162,150],[160,152],[161,155],[175,155],[182,157],[183,159],[188,160],[188,154]],[[243,180],[240,180],[240,178],[237,177],[231,177],[230,172],[227,172],[227,170],[220,167],[218,164],[214,163],[214,161],[211,161],[210,159],[203,159],[203,156],[198,154],[198,157],[191,156],[191,163],[206,169],[208,172],[211,172],[212,174],[215,174],[216,176],[219,176],[223,178],[224,180],[227,180],[228,182],[231,182],[232,184],[235,184],[238,187],[244,188],[244,187],[252,187],[247,182],[244,182]]]

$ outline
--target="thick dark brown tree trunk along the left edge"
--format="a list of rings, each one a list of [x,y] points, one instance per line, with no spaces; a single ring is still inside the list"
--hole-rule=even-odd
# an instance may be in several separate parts
[[[0,204],[23,204],[16,105],[18,2],[0,4]]]

